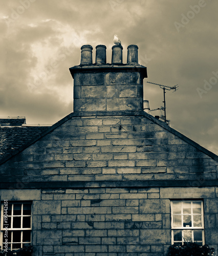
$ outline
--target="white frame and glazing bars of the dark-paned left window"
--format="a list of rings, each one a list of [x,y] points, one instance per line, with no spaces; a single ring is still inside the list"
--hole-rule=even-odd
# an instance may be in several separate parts
[[[18,250],[18,248],[13,249],[13,244],[21,244],[20,248],[23,248],[24,244],[29,244],[31,245],[32,243],[32,232],[30,232],[30,242],[23,242],[23,231],[30,230],[32,231],[32,202],[30,201],[8,201],[8,204],[12,204],[12,212],[11,215],[8,215],[8,217],[11,217],[11,227],[12,227],[12,222],[13,222],[13,217],[21,217],[21,226],[20,228],[8,228],[8,231],[21,231],[21,238],[20,242],[14,242],[12,243],[12,236],[11,236],[11,242],[8,242],[8,244],[11,244],[11,250]],[[21,215],[13,215],[13,207],[15,204],[21,204]],[[24,204],[31,204],[31,214],[30,215],[23,215],[23,207]],[[30,228],[23,228],[23,217],[30,217]],[[4,201],[1,202],[1,235],[0,235],[0,246],[2,249],[4,249],[4,243],[3,243],[3,231],[5,231],[5,228],[3,228],[3,222],[4,221]],[[8,246],[9,248],[9,246]]]

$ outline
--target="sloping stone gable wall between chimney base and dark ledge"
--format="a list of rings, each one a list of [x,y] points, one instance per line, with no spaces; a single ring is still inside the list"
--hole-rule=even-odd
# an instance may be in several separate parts
[[[73,113],[2,164],[3,182],[217,179],[217,156],[197,143],[145,113],[115,114]]]

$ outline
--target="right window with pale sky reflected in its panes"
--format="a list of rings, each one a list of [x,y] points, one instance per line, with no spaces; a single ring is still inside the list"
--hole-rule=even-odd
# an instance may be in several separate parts
[[[181,246],[184,241],[204,244],[204,215],[202,201],[172,201],[172,244]]]

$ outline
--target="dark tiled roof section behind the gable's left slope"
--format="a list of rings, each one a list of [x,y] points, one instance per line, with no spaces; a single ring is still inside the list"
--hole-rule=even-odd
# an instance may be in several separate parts
[[[0,118],[0,161],[48,130],[48,126],[22,126],[25,118]]]

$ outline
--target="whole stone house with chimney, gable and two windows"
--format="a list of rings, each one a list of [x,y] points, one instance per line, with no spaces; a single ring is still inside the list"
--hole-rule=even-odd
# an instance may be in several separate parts
[[[50,127],[2,119],[3,248],[35,255],[162,256],[218,245],[218,157],[143,111],[138,47],[81,48],[74,112]],[[3,225],[7,206],[6,227]]]

